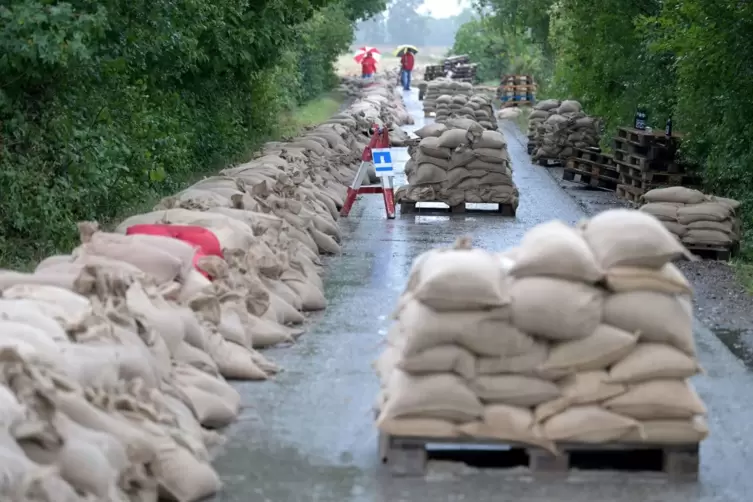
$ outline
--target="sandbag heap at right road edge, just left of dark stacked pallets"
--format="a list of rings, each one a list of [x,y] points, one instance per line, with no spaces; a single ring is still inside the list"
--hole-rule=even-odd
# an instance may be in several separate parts
[[[574,155],[575,148],[599,146],[601,137],[599,121],[583,113],[577,101],[563,101],[537,130],[534,159],[567,159]]]

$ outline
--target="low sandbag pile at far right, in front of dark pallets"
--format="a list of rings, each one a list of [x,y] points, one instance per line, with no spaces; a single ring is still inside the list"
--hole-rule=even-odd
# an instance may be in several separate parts
[[[740,202],[685,187],[643,194],[640,210],[658,218],[686,247],[732,248],[740,242]]]

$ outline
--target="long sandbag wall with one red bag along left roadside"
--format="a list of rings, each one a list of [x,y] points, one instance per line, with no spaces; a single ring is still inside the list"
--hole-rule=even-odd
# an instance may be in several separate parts
[[[228,380],[279,368],[324,309],[320,254],[386,84],[302,136],[164,199],[33,273],[0,271],[0,499],[190,502],[221,488],[217,432],[238,417]],[[384,98],[384,99],[383,99]]]

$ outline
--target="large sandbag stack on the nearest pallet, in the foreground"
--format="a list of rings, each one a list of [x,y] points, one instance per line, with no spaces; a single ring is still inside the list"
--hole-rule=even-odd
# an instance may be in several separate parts
[[[375,362],[378,428],[552,452],[698,443],[692,292],[671,263],[685,255],[627,209],[538,225],[500,253],[464,239],[422,254]]]

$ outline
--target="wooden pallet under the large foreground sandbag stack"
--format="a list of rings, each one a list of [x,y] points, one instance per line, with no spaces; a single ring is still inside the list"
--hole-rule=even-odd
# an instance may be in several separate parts
[[[532,474],[539,476],[566,476],[576,469],[579,472],[609,469],[631,475],[652,472],[673,481],[698,479],[698,444],[560,444],[560,454],[555,456],[530,445],[492,439],[452,438],[442,441],[437,438],[380,433],[379,456],[393,475],[423,476],[426,474],[428,460],[436,456],[430,445],[438,443],[456,448],[449,451],[443,448],[442,460],[460,460],[463,457],[473,460],[474,457],[483,456],[486,460],[484,464],[492,463],[508,468],[528,467]]]

